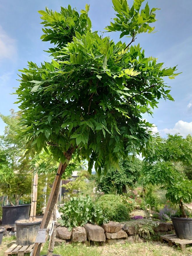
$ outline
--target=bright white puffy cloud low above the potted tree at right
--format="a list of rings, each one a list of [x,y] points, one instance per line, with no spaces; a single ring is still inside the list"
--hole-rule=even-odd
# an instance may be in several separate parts
[[[166,128],[166,129],[161,130],[161,132],[163,132],[165,134],[179,133],[183,137],[186,137],[188,134],[192,135],[192,122],[184,122],[182,120],[179,120],[172,129]]]

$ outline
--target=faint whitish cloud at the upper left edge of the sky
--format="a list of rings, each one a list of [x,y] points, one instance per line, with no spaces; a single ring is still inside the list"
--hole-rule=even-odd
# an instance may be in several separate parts
[[[0,60],[4,58],[14,58],[16,54],[16,41],[0,26]]]

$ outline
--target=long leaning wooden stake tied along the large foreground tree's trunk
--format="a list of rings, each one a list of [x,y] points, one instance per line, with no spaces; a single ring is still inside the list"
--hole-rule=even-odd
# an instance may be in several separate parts
[[[51,193],[49,195],[49,199],[48,199],[48,202],[47,202],[47,207],[45,209],[45,214],[43,216],[43,219],[42,219],[42,222],[41,222],[41,225],[40,225],[39,229],[43,229],[44,228],[45,221],[46,221],[47,215],[49,213],[49,208],[50,208],[50,205],[51,205],[51,201],[52,201],[52,198],[53,198],[53,195],[54,195],[54,191],[55,191],[55,188],[56,188],[56,185],[57,185],[58,177],[59,177],[60,172],[61,172],[61,168],[62,168],[62,162],[59,163],[57,174],[55,176],[55,180],[54,180],[54,183],[53,183],[53,186],[52,186],[52,189],[51,189]],[[35,256],[36,255],[37,248],[38,248],[38,243],[35,243],[35,245],[33,247],[33,251],[31,253],[31,256]]]

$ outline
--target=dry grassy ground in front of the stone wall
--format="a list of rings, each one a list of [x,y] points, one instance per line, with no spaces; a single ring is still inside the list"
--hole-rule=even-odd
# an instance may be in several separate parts
[[[4,251],[15,242],[15,237],[3,237],[0,246],[0,256],[4,256]],[[41,255],[47,254],[48,243],[45,244]],[[69,244],[56,246],[54,253],[62,256],[190,256],[192,247],[187,247],[185,252],[181,252],[175,247],[169,247],[160,242],[146,243],[126,243],[122,245],[106,245],[86,247],[82,244]]]

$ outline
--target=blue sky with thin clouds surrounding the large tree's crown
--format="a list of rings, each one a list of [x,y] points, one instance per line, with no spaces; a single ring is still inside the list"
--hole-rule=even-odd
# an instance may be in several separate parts
[[[16,95],[11,95],[15,91],[13,88],[19,86],[17,70],[26,67],[27,61],[40,64],[49,60],[49,55],[43,51],[49,43],[40,40],[42,25],[38,10],[47,6],[59,11],[60,6],[70,4],[80,11],[86,3],[90,4],[93,31],[103,31],[115,17],[111,0],[0,0],[0,113],[8,115],[10,109],[18,110],[13,104]],[[128,3],[132,5],[133,1]],[[158,129],[162,136],[176,132],[183,136],[192,135],[192,1],[149,0],[148,3],[150,8],[161,8],[155,23],[158,32],[138,35],[135,43],[140,43],[146,56],[158,58],[166,67],[178,65],[182,74],[166,80],[172,87],[175,102],[160,100],[153,117],[146,115],[144,118],[154,123],[155,130]],[[110,33],[110,36],[115,42],[119,40],[118,33]],[[123,40],[129,43],[130,38]],[[3,130],[4,124],[0,121],[0,134]]]

